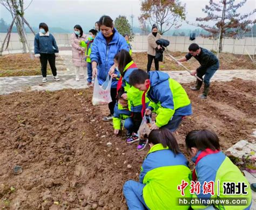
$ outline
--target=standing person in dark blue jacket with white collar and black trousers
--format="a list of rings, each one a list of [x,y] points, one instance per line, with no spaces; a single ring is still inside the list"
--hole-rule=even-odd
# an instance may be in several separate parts
[[[49,33],[46,23],[39,24],[39,33],[36,34],[34,40],[34,52],[35,57],[40,58],[43,82],[47,82],[47,61],[50,64],[53,79],[59,81],[55,66],[55,58],[58,55],[59,49],[55,38]]]

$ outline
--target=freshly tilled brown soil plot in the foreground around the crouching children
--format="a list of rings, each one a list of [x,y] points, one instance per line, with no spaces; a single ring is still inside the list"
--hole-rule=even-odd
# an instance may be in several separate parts
[[[223,150],[251,141],[255,82],[213,82],[206,101],[184,87],[193,115],[175,132],[181,150],[192,129],[215,131]],[[0,208],[126,209],[122,186],[138,180],[148,148],[138,152],[114,136],[91,96],[92,89],[0,96]],[[23,172],[15,175],[15,165]]]

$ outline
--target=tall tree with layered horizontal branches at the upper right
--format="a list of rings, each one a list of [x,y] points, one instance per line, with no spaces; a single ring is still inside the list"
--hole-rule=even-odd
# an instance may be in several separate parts
[[[248,24],[256,23],[256,20],[249,19],[256,9],[245,15],[241,15],[237,10],[241,8],[247,0],[242,0],[238,4],[235,4],[234,1],[235,0],[220,0],[219,3],[214,3],[213,0],[210,0],[209,5],[206,5],[205,9],[203,9],[203,12],[205,12],[207,16],[196,19],[199,22],[215,22],[214,26],[206,24],[198,24],[197,26],[210,32],[210,36],[219,38],[218,52],[221,52],[223,49],[222,41],[224,37],[237,38],[241,32],[245,33],[250,30],[250,28],[247,27]]]

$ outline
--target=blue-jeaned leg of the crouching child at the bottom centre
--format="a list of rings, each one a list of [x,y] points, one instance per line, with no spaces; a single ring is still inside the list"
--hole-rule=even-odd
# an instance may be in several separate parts
[[[143,199],[144,184],[138,181],[129,180],[124,183],[123,193],[126,199],[126,204],[131,210],[148,209]]]

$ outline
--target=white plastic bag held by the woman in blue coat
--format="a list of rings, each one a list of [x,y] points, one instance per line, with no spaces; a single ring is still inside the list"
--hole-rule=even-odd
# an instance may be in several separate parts
[[[110,79],[110,76],[107,76],[106,81],[100,86],[96,76],[92,95],[93,105],[105,105],[112,101],[110,94],[111,82],[112,78]]]

